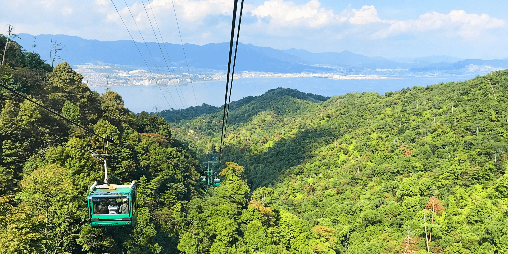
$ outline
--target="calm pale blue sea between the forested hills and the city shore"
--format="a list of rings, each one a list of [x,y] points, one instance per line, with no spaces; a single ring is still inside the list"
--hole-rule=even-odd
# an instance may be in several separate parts
[[[348,92],[396,91],[412,86],[426,86],[439,82],[463,81],[472,77],[402,77],[399,79],[354,79],[333,80],[327,78],[242,78],[233,82],[231,100],[237,101],[247,96],[259,96],[269,89],[284,87],[298,89],[302,92],[334,96]],[[186,108],[203,103],[224,105],[226,80],[207,81],[189,85],[161,86],[113,86],[125,101],[125,107],[132,112],[155,111],[168,108]],[[98,92],[105,92],[105,87],[91,87]],[[178,91],[177,91],[178,89]],[[194,96],[196,94],[196,97]],[[169,105],[168,105],[169,104]]]

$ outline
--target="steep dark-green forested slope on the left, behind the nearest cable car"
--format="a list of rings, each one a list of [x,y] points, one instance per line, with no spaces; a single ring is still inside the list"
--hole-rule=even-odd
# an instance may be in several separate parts
[[[104,171],[91,151],[102,151],[102,141],[0,88],[0,133],[69,146],[0,134],[0,253],[178,252],[180,229],[175,225],[184,222],[177,218],[184,217],[183,206],[202,192],[196,181],[199,163],[172,137],[168,123],[156,115],[130,112],[114,91],[91,91],[66,62],[53,69],[17,44],[10,45],[6,56],[0,83],[167,163],[110,145],[115,157],[108,160],[109,182],[137,182],[138,225],[92,229],[88,187],[94,181],[103,183]]]

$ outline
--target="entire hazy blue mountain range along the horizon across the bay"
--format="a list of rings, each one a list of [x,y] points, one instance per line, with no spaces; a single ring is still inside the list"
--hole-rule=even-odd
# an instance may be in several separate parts
[[[34,37],[29,34],[18,34],[21,40],[17,42],[23,48],[33,49]],[[57,39],[66,46],[67,51],[60,51],[59,56],[71,64],[94,63],[114,64],[126,66],[157,66],[161,71],[168,67],[164,59],[168,58],[172,65],[185,72],[185,58],[191,68],[226,70],[228,65],[229,43],[209,43],[203,46],[165,43],[158,45],[154,42],[136,45],[132,41],[98,41],[86,40],[76,36],[66,35],[38,35],[35,48],[43,59],[49,58],[49,40]],[[44,45],[44,46],[43,46]],[[137,46],[137,48],[136,48]],[[148,49],[147,49],[148,48]],[[144,56],[140,56],[139,51]],[[161,53],[164,52],[164,56]],[[151,56],[153,56],[153,59]],[[146,63],[145,63],[146,62]],[[295,72],[334,72],[337,69],[409,69],[411,72],[432,72],[460,70],[468,65],[487,66],[493,68],[508,68],[508,58],[482,60],[461,59],[453,56],[427,56],[414,59],[385,57],[370,57],[350,51],[312,53],[304,49],[278,50],[270,47],[258,47],[252,44],[238,44],[236,71],[261,71],[274,73]]]

